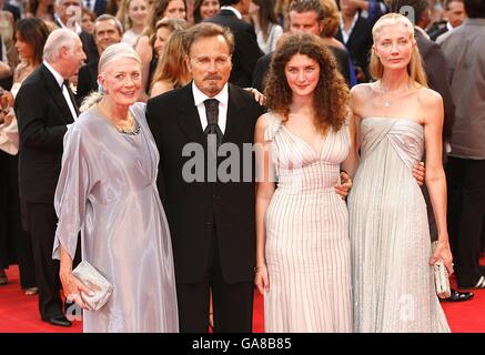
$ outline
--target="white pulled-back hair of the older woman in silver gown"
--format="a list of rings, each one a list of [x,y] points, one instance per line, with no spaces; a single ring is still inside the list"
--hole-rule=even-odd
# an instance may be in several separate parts
[[[102,73],[108,64],[119,59],[133,59],[141,67],[141,60],[138,53],[134,51],[131,45],[127,43],[115,43],[108,47],[100,57],[100,62],[98,64],[98,73]],[[80,111],[84,112],[92,105],[97,104],[104,97],[103,90],[98,90],[89,94],[81,104]]]

